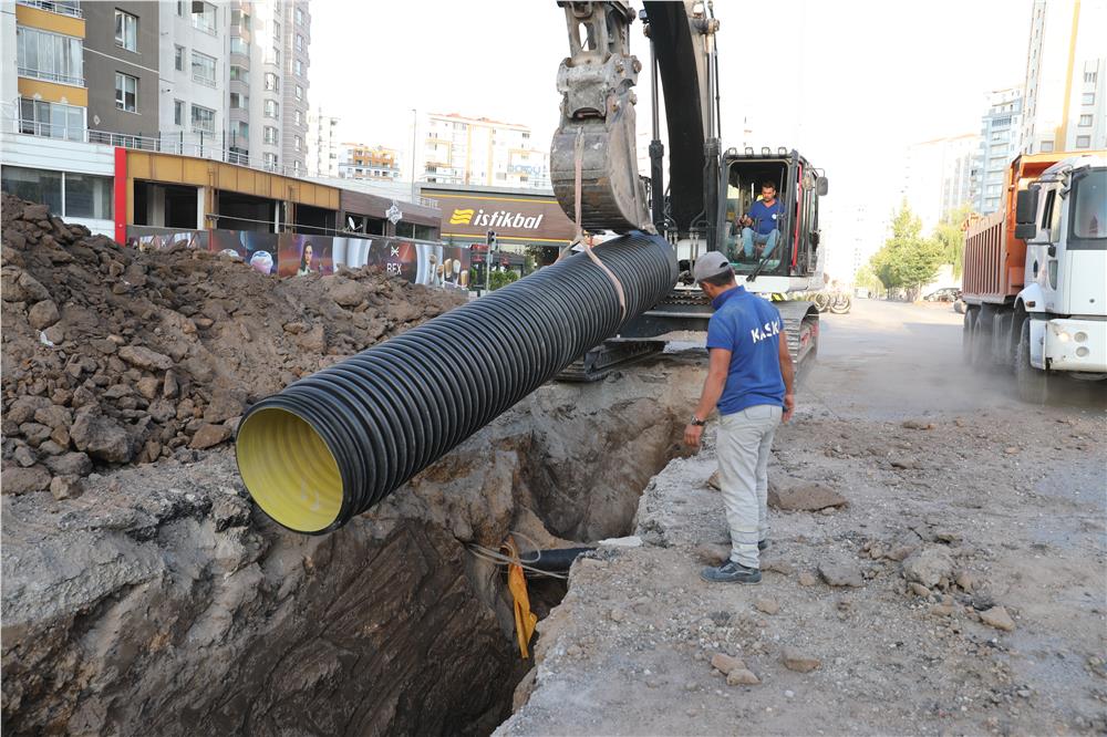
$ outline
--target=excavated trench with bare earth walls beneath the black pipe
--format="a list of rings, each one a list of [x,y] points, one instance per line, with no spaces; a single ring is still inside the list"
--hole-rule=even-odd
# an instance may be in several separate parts
[[[8,499],[3,727],[490,733],[532,661],[504,569],[469,547],[629,533],[700,370],[670,356],[547,384],[325,536],[251,508],[230,454],[104,476],[61,515]],[[530,582],[539,616],[563,594]]]

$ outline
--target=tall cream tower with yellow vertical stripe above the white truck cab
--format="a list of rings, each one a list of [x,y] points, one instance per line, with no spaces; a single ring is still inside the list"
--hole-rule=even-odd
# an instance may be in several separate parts
[[[1107,147],[1107,0],[1034,0],[1022,150]]]

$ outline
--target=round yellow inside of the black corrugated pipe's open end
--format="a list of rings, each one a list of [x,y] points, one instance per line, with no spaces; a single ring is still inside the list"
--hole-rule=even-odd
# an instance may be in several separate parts
[[[318,532],[342,507],[342,475],[319,433],[278,407],[255,412],[238,430],[238,469],[261,509],[284,527]]]

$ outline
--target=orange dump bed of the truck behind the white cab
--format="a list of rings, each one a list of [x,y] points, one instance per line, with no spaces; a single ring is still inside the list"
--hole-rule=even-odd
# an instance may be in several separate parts
[[[1022,290],[1026,241],[1015,238],[1015,199],[1043,172],[1072,154],[1024,154],[1007,168],[1003,207],[965,230],[962,294],[966,302],[1003,304]]]

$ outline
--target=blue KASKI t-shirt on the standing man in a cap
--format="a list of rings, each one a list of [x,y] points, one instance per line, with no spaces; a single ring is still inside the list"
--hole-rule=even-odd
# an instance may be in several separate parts
[[[707,323],[707,347],[731,352],[718,414],[733,415],[758,404],[783,407],[780,341],[786,336],[780,313],[744,287],[726,290],[711,305],[715,314]]]

